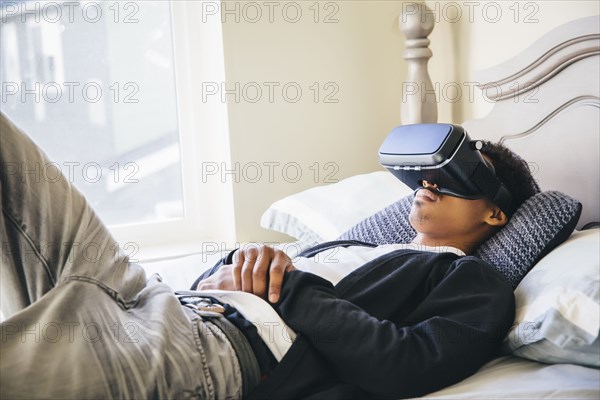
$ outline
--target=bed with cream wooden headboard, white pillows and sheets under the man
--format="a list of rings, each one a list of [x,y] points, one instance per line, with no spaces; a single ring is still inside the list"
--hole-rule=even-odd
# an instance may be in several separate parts
[[[528,160],[543,191],[568,194],[583,208],[573,234],[536,262],[515,290],[517,318],[502,354],[426,398],[600,398],[599,27],[598,16],[567,23],[472,79],[494,106],[484,118],[462,124],[470,136],[503,142]],[[432,29],[418,13],[405,19],[408,82],[431,85],[426,61]],[[402,123],[421,122],[437,122],[436,104],[414,96],[402,106]],[[293,257],[409,193],[385,171],[357,175],[275,202],[261,224],[297,239],[281,245]],[[189,256],[176,261],[181,268],[172,261],[145,267],[183,288],[199,263],[208,268],[219,257]]]

